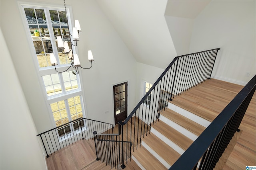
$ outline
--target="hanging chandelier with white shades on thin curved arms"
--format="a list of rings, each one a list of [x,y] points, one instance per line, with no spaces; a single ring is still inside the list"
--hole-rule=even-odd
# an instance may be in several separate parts
[[[66,3],[64,0],[64,7],[65,7],[65,12],[66,12],[66,17],[67,17],[67,10],[66,10]],[[68,17],[67,17],[67,25],[68,25]],[[73,53],[73,47],[77,46],[77,41],[79,41],[79,33],[81,33],[81,27],[80,27],[80,23],[78,20],[75,20],[75,27],[73,27],[72,29],[72,34],[70,33],[70,29],[69,29],[69,25],[68,25],[68,33],[69,33],[69,41],[71,44],[71,48],[69,48],[68,42],[63,42],[62,41],[62,37],[58,36],[57,37],[57,44],[58,44],[58,48],[62,51],[62,54],[65,54],[68,56],[68,59],[71,60],[71,64],[69,66],[69,68],[71,68],[71,66],[73,68],[76,69],[76,73],[79,73],[78,67],[83,68],[83,69],[90,69],[92,68],[92,62],[94,61],[93,56],[92,56],[92,51],[89,50],[88,51],[88,61],[91,62],[91,66],[89,68],[84,68],[80,65],[80,61],[78,58],[78,55],[76,53]],[[72,40],[71,40],[72,37]],[[74,43],[72,43],[72,41]],[[54,55],[54,53],[50,53],[50,63],[52,66],[54,66],[55,70],[56,70],[56,65],[58,65],[58,62],[56,60],[56,57]],[[69,69],[68,68],[68,69]],[[64,71],[57,71],[56,72],[65,72],[68,69],[64,70]],[[74,72],[73,72],[74,74]]]

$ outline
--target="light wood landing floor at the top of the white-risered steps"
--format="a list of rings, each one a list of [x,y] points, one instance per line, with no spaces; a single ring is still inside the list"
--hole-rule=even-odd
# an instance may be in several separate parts
[[[169,102],[212,122],[242,90],[242,87],[238,84],[211,79]]]

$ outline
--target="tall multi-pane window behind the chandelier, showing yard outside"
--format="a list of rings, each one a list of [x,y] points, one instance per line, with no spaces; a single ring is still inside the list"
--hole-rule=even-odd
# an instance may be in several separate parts
[[[68,33],[69,11],[62,8],[33,7],[22,5],[27,28],[30,33],[31,48],[34,50],[34,61],[45,87],[45,95],[52,110],[52,118],[56,127],[69,121],[84,117],[82,91],[78,75],[73,70],[56,72],[50,64],[49,53],[57,57],[60,70],[66,70],[71,61],[57,48],[57,36],[70,45]],[[66,14],[67,13],[67,14]],[[68,18],[68,19],[67,19]],[[69,22],[70,23],[70,22]],[[69,24],[71,27],[71,25]],[[74,49],[75,50],[75,49]],[[84,123],[73,122],[58,128],[59,135],[66,135]],[[73,129],[72,129],[73,128]]]

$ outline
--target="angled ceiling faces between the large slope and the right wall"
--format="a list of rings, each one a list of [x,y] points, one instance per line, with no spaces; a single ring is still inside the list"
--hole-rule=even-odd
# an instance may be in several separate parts
[[[209,4],[210,0],[169,0],[165,19],[177,55],[190,53],[190,39],[195,18]]]

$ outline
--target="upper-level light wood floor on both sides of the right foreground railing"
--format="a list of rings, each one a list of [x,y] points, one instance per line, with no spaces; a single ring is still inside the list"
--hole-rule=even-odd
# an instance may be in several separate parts
[[[213,121],[242,88],[237,84],[211,79],[174,98],[172,103]],[[223,170],[243,170],[246,166],[256,165],[255,100],[254,93],[239,127],[242,134]]]

